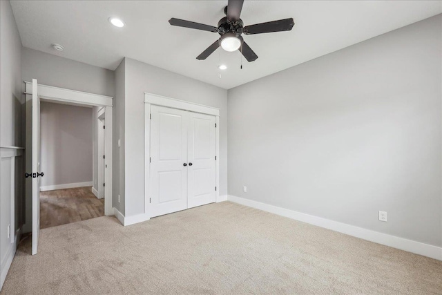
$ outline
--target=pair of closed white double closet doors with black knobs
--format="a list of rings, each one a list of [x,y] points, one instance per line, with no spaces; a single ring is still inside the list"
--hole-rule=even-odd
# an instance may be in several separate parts
[[[215,117],[151,106],[151,217],[215,202]]]

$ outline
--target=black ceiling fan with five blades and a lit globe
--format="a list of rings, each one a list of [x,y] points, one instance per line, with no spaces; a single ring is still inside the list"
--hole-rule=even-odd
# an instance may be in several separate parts
[[[244,26],[242,19],[240,19],[243,3],[244,0],[229,0],[227,6],[224,8],[224,13],[227,15],[227,17],[223,17],[220,19],[220,21],[218,21],[218,27],[175,18],[169,19],[169,23],[172,26],[218,32],[218,34],[221,35],[220,39],[213,42],[211,46],[198,55],[197,59],[206,59],[213,53],[213,51],[221,46],[222,49],[230,52],[240,49],[240,52],[242,55],[244,55],[247,61],[254,61],[258,58],[258,55],[256,55],[256,53],[251,50],[244,39],[242,39],[242,33],[245,35],[253,35],[262,34],[265,32],[281,32],[291,30],[295,23],[293,18],[290,18],[280,19],[279,21],[268,21],[267,23],[257,23],[251,26]]]

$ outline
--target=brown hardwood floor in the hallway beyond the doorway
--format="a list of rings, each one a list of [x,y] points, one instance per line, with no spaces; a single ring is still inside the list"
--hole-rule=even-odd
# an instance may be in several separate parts
[[[104,216],[104,199],[91,187],[57,189],[40,193],[40,229]]]

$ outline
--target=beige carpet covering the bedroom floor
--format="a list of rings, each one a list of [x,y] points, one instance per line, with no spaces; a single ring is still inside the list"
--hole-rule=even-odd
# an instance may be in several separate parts
[[[244,207],[40,231],[1,294],[442,294],[442,262]]]

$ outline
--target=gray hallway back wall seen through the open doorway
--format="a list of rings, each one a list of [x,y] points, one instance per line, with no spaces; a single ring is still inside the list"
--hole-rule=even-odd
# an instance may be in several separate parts
[[[41,187],[92,182],[92,108],[41,102]]]

